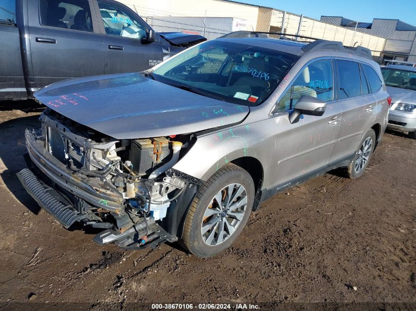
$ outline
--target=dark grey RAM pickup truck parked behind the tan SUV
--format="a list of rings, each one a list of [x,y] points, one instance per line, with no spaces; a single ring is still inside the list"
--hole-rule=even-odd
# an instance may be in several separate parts
[[[155,32],[113,0],[1,0],[0,99],[59,80],[146,70],[206,38]]]

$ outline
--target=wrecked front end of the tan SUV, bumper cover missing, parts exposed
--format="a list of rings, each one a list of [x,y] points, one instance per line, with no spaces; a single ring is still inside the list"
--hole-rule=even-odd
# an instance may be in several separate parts
[[[25,133],[32,168],[18,176],[41,207],[64,227],[104,229],[100,244],[141,249],[177,240],[202,181],[172,166],[195,137],[115,140],[51,110],[40,120]]]

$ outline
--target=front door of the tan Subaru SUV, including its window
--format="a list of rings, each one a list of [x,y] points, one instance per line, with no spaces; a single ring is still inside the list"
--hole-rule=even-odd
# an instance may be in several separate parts
[[[301,115],[291,124],[289,114],[303,95],[327,102],[321,116]],[[331,59],[307,64],[279,99],[276,122],[276,191],[293,186],[324,170],[334,148],[340,128],[342,110],[334,98],[334,74]]]

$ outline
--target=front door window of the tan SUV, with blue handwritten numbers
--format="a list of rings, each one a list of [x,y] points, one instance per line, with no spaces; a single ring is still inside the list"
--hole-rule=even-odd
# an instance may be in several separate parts
[[[278,111],[293,109],[303,95],[319,98],[325,102],[333,100],[334,79],[332,61],[317,60],[305,67],[279,100]]]

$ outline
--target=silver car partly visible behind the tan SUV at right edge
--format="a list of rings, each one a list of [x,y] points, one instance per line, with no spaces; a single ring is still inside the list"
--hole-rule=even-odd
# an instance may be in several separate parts
[[[416,139],[416,67],[388,65],[382,67],[387,92],[393,98],[388,128],[409,132]]]

